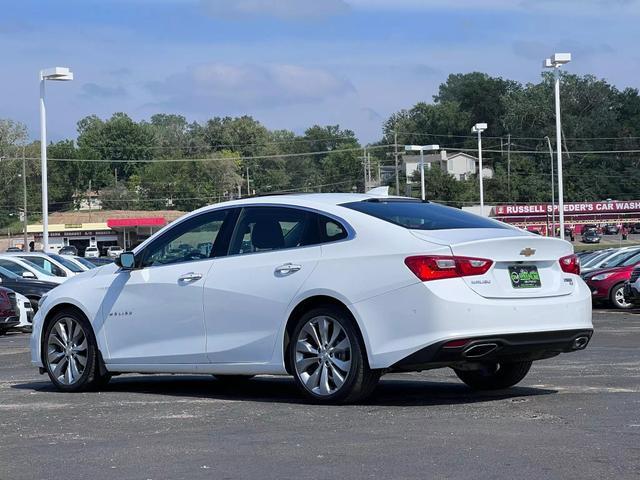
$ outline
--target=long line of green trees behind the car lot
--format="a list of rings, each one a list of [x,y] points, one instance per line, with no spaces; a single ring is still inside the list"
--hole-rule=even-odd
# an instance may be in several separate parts
[[[591,75],[562,76],[565,200],[640,198],[640,96]],[[431,103],[392,114],[382,137],[369,145],[373,170],[394,164],[394,144],[439,144],[476,155],[471,126],[486,122],[484,158],[494,169],[485,202],[551,199],[549,143],[555,149],[553,78],[538,83],[452,74]],[[78,206],[89,190],[104,208],[192,210],[239,195],[286,191],[362,191],[361,142],[338,125],[303,134],[270,130],[249,117],[153,115],[136,122],[125,113],[78,122],[75,139],[48,146],[52,211]],[[0,120],[0,226],[15,221],[22,202],[20,158],[26,157],[29,209],[40,210],[39,142],[24,125]],[[375,175],[374,175],[375,176]],[[401,193],[405,193],[401,176]],[[388,178],[395,185],[394,178]],[[427,172],[429,198],[453,205],[477,203],[478,179],[457,181]],[[417,192],[416,192],[417,194]]]

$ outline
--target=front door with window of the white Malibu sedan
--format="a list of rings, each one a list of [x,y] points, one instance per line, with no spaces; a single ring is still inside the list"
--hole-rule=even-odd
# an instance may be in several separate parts
[[[203,285],[229,210],[180,222],[118,271],[102,306],[109,363],[206,363]],[[222,248],[222,247],[220,247]]]

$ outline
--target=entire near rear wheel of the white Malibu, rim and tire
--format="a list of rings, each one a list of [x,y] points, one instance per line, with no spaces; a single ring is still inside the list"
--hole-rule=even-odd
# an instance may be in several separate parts
[[[369,368],[351,316],[332,305],[303,314],[289,344],[300,390],[319,403],[351,403],[371,394],[380,372]]]

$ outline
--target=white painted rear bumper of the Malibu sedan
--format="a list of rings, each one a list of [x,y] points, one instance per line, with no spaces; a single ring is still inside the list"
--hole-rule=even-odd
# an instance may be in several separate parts
[[[418,283],[350,305],[371,368],[454,339],[592,330],[591,292],[576,275],[572,292],[555,297],[485,298],[462,279]],[[434,347],[435,348],[435,347]]]

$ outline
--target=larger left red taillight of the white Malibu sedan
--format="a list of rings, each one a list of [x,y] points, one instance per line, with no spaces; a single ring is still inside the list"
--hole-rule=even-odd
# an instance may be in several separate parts
[[[441,255],[420,255],[407,257],[404,263],[423,282],[443,278],[484,275],[493,262],[486,258],[448,257]]]

